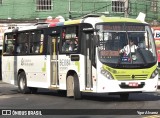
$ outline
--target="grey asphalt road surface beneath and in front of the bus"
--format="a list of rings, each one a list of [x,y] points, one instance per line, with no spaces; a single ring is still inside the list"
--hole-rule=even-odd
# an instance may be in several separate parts
[[[44,110],[39,118],[55,117],[55,118],[160,118],[160,91],[156,93],[134,93],[130,95],[128,101],[120,100],[119,96],[110,96],[106,94],[86,94],[83,93],[82,100],[74,100],[67,98],[65,92],[57,92],[53,90],[39,89],[37,94],[21,94],[17,91],[17,87],[0,81],[0,109],[2,110],[19,110],[30,114],[26,109]],[[60,110],[59,110],[60,109]],[[64,110],[63,110],[64,109]],[[65,110],[69,110],[69,114],[65,115]],[[73,109],[73,110],[71,110]],[[80,110],[81,112],[79,112]],[[108,111],[107,111],[108,109]],[[118,109],[116,111],[116,109]],[[136,109],[133,110],[132,109]],[[143,115],[143,109],[158,114]],[[155,109],[155,110],[154,110]],[[156,109],[159,109],[156,111]],[[55,111],[54,111],[55,110]],[[75,110],[75,111],[74,111]],[[85,111],[86,110],[86,111]],[[109,115],[103,114],[104,111]],[[51,113],[51,115],[43,115],[43,113]],[[55,113],[56,112],[56,113]],[[72,113],[73,112],[73,113]],[[78,112],[78,114],[74,114]],[[119,113],[118,113],[119,112]],[[121,112],[126,113],[121,115]],[[81,114],[82,113],[82,114]],[[102,113],[102,115],[101,115]],[[2,114],[2,113],[1,113]],[[12,113],[12,117],[22,117]],[[81,114],[81,115],[80,115]],[[90,114],[90,115],[89,115]],[[98,115],[96,115],[98,114]],[[142,115],[138,115],[142,114]],[[24,114],[23,114],[24,115]],[[6,118],[7,116],[4,116]],[[9,117],[9,116],[8,116]],[[23,117],[28,118],[24,115]],[[32,116],[33,117],[33,116]],[[36,117],[36,116],[34,116]]]

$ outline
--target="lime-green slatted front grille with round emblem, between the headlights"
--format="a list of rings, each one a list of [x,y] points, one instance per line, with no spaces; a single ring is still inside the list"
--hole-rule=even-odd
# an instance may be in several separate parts
[[[116,80],[146,80],[148,75],[115,75]]]

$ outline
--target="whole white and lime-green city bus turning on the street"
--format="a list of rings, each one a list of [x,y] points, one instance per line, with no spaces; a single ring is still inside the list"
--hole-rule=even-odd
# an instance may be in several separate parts
[[[121,53],[129,40],[136,49]],[[137,19],[88,16],[37,24],[4,35],[2,80],[22,93],[38,88],[120,95],[155,92],[157,55],[150,26]]]

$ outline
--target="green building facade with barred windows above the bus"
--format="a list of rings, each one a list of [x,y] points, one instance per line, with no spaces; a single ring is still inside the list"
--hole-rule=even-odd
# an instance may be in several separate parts
[[[36,22],[61,15],[76,19],[86,14],[137,17],[160,21],[160,0],[0,0],[0,23]]]

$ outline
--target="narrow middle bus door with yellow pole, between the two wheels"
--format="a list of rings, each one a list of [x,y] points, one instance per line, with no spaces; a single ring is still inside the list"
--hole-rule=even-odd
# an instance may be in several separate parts
[[[50,57],[51,57],[51,86],[58,87],[58,36],[51,37]]]

